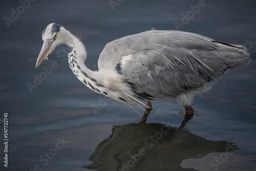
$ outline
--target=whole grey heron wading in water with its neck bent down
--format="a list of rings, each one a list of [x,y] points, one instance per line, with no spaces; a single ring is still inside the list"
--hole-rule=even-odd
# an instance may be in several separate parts
[[[151,100],[174,97],[185,114],[193,115],[193,97],[210,90],[211,80],[250,62],[242,45],[196,33],[152,29],[108,42],[99,55],[98,70],[92,71],[85,65],[83,43],[63,26],[49,24],[42,31],[42,40],[35,67],[65,44],[71,49],[69,66],[83,84],[103,96],[146,109],[147,114],[153,109]]]

